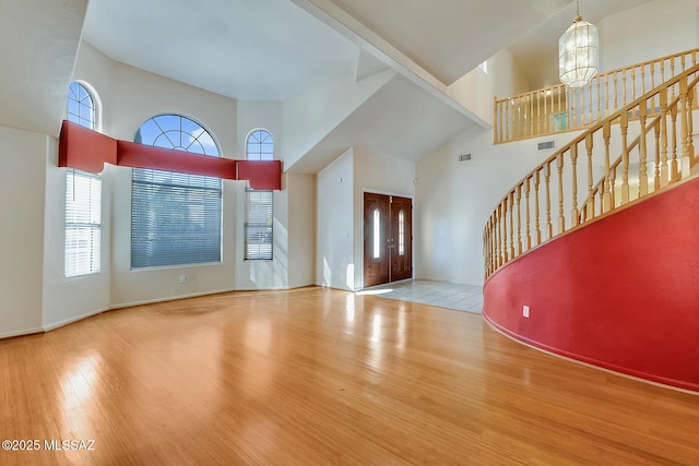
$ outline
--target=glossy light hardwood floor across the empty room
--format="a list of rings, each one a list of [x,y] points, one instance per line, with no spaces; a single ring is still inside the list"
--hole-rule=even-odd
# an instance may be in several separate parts
[[[42,449],[1,465],[699,464],[699,396],[536,351],[479,314],[315,287],[0,340],[0,439]]]

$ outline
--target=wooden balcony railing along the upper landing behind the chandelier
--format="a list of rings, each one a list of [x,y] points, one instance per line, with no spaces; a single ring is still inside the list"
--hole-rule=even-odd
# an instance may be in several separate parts
[[[558,84],[514,97],[496,97],[494,142],[587,129],[697,63],[699,49],[691,49],[600,73],[577,89]]]

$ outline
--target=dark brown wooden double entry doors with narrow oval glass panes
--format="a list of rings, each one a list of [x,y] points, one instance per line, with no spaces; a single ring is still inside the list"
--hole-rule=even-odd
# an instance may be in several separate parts
[[[364,286],[413,276],[413,201],[364,193]]]

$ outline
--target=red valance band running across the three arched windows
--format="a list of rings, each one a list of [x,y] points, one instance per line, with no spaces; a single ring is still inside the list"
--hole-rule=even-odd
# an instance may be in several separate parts
[[[58,166],[98,174],[104,164],[249,180],[258,190],[282,189],[281,160],[234,160],[114,140],[70,121],[63,121]]]

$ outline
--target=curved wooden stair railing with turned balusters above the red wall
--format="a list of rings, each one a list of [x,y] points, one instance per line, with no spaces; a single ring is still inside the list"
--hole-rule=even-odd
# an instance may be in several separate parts
[[[486,223],[485,277],[538,244],[689,177],[699,159],[692,135],[698,82],[695,64],[592,124],[520,180]],[[581,203],[580,187],[587,188]]]

